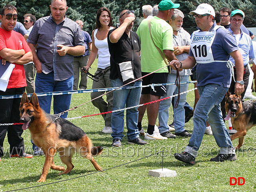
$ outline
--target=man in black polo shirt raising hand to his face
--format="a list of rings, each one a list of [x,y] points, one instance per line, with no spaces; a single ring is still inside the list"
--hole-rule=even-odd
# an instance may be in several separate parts
[[[108,32],[108,48],[110,52],[110,79],[112,87],[124,85],[123,79],[120,78],[118,64],[133,60],[134,78],[141,77],[140,67],[140,38],[132,31],[135,16],[134,11],[123,10],[120,13],[120,27]],[[133,49],[133,50],[132,50]],[[134,56],[132,56],[132,53]],[[133,59],[132,59],[133,58]],[[127,86],[141,86],[141,80],[138,80]],[[115,90],[113,93],[113,110],[125,107],[136,106],[140,101],[141,88]],[[141,140],[138,131],[138,107],[126,110],[126,126],[128,129],[128,144],[148,144]],[[124,111],[112,113],[111,127],[113,133],[112,146],[121,146],[124,137]]]

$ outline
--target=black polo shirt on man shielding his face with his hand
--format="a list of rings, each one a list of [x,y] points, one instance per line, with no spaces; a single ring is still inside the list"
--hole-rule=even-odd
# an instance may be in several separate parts
[[[116,30],[112,29],[108,32],[108,49],[110,52],[110,79],[117,79],[118,69],[117,63],[122,63],[132,60],[132,39],[134,46],[134,76],[135,78],[141,77],[141,66],[140,66],[140,38],[138,34],[131,31],[130,38],[124,32],[122,37],[116,43],[112,43],[109,40],[110,34]]]

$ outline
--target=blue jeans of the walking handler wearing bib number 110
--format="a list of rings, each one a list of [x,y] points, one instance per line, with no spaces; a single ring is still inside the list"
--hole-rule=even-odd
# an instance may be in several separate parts
[[[206,121],[208,120],[216,143],[220,147],[220,153],[235,154],[235,148],[232,146],[220,110],[220,102],[228,91],[228,88],[218,84],[207,84],[205,86],[198,86],[197,88],[200,99],[194,109],[194,130],[185,152],[190,153],[194,157],[198,155],[198,149],[204,136]]]

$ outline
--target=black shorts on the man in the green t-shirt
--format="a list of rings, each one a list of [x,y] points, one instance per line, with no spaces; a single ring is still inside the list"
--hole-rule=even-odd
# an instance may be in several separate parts
[[[142,72],[142,76],[149,74],[147,72]],[[162,84],[167,82],[168,73],[153,73],[142,78],[142,85],[149,84]],[[155,96],[167,96],[166,85],[154,86],[154,90],[151,87],[143,87],[141,94],[151,94]]]

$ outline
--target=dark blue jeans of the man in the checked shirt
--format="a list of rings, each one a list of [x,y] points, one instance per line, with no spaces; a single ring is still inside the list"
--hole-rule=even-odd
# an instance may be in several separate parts
[[[48,74],[37,73],[36,74],[36,93],[43,92],[56,92],[56,91],[71,91],[73,89],[74,76],[63,80],[54,80],[54,72]],[[53,110],[54,114],[61,113],[68,110],[71,102],[71,94],[54,95],[53,96]],[[38,97],[40,107],[46,112],[50,113],[52,96],[40,96]],[[62,118],[67,118],[68,113],[61,115]]]

